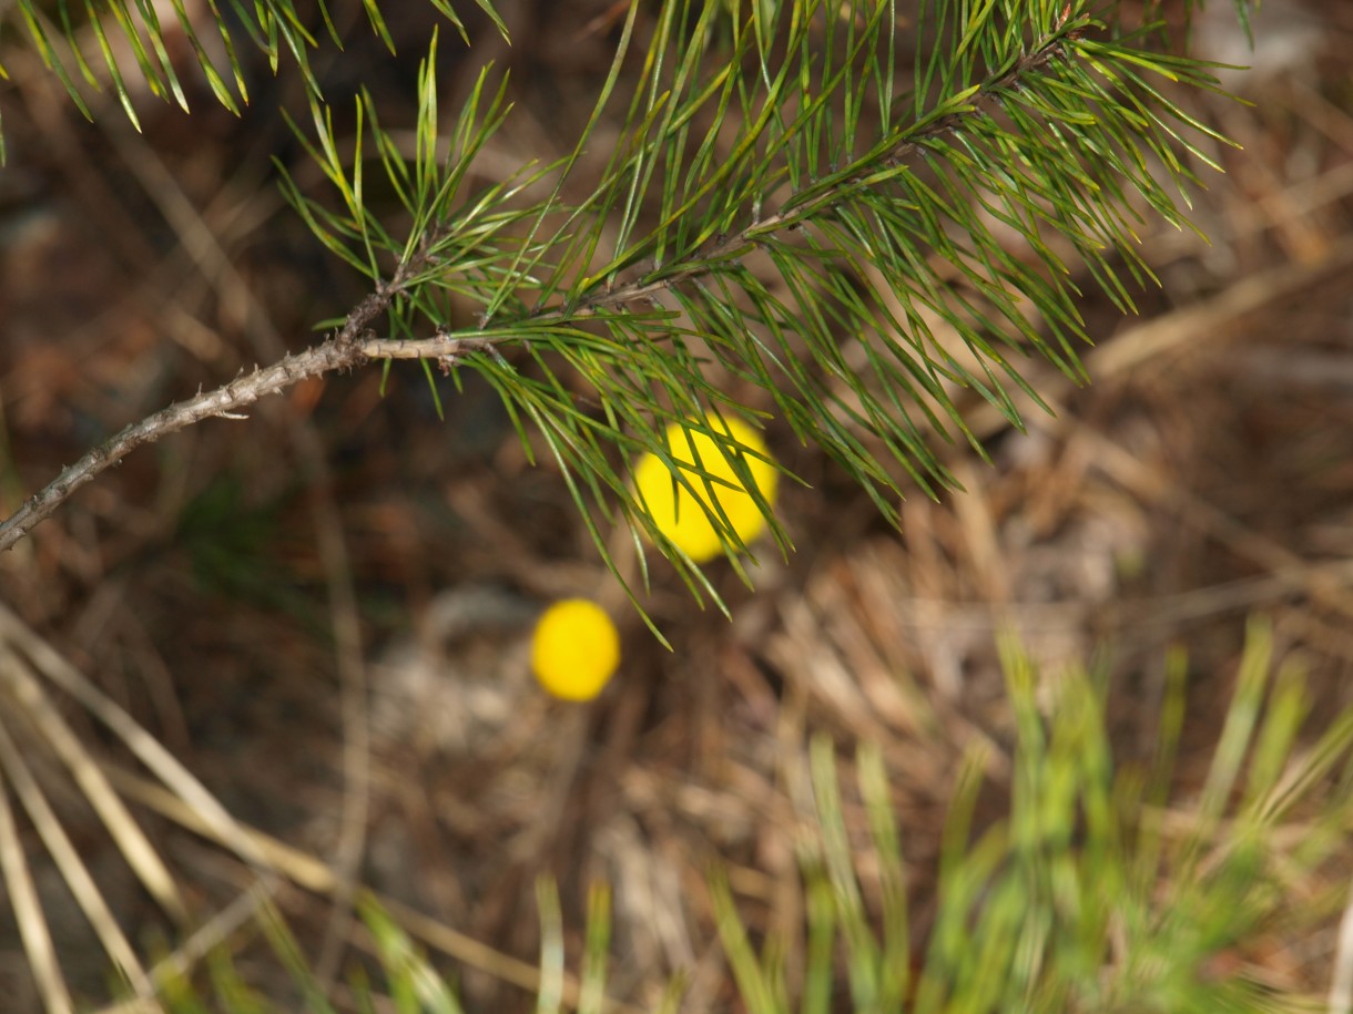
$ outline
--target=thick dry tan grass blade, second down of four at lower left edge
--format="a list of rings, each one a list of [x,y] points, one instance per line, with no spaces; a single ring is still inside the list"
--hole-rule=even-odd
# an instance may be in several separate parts
[[[7,635],[12,633],[14,625],[4,622],[9,619],[4,615],[5,612],[0,608],[0,634]],[[15,641],[11,639],[11,644]],[[31,656],[28,657],[31,660]],[[141,830],[141,825],[137,823],[131,811],[108,784],[108,779],[80,737],[57,711],[37,677],[14,656],[7,657],[0,664],[0,691],[23,711],[38,734],[46,740],[51,752],[70,772],[70,777],[89,800],[89,806],[99,814],[99,819],[103,821],[104,827],[116,842],[118,850],[122,852],[127,865],[131,867],[152,898],[175,919],[185,922],[188,909],[169,868],[160,859],[160,853],[156,852],[154,845]]]

